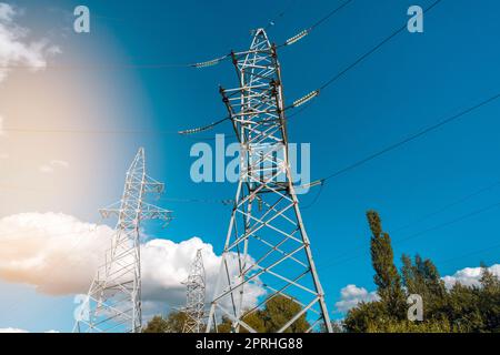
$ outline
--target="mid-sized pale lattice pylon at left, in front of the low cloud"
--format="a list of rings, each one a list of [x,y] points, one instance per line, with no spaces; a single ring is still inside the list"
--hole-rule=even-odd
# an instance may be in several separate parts
[[[141,148],[127,171],[121,200],[100,210],[103,217],[117,215],[118,223],[73,332],[141,331],[140,224],[143,220],[162,220],[167,224],[172,219],[171,211],[143,201],[149,192],[162,193],[163,184],[147,175]]]

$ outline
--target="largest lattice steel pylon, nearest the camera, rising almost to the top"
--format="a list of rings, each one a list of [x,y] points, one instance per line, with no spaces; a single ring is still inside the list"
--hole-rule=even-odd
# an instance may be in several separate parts
[[[206,331],[226,316],[233,332],[256,332],[246,317],[280,296],[300,311],[276,332],[290,332],[304,318],[308,332],[331,332],[292,182],[276,47],[259,29],[250,49],[232,59],[239,85],[220,92],[240,142],[240,181]],[[256,287],[266,295],[256,296]]]

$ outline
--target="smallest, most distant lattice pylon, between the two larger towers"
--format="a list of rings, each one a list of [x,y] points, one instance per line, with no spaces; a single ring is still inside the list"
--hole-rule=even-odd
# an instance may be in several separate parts
[[[187,320],[182,333],[201,333],[204,331],[204,267],[201,250],[198,250],[194,262],[191,265],[187,287],[186,315]]]

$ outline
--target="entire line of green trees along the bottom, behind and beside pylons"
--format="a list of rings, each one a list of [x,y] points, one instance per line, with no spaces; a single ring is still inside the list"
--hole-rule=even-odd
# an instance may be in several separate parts
[[[367,217],[371,230],[373,281],[379,300],[360,303],[351,308],[344,320],[332,324],[336,332],[500,333],[500,281],[486,266],[482,267],[479,285],[464,286],[456,283],[451,288],[444,286],[432,261],[420,255],[410,257],[403,254],[402,266],[398,270],[391,239],[383,232],[379,214],[369,211]],[[408,318],[407,300],[412,294],[421,296],[422,321]],[[299,304],[280,295],[266,302],[263,310],[246,315],[243,321],[259,333],[274,333],[300,311]],[[167,317],[153,317],[143,332],[181,333],[184,322],[186,314],[172,312]],[[307,315],[303,314],[286,332],[303,333],[309,327]],[[218,332],[231,331],[231,322],[223,318]],[[239,331],[246,332],[243,327]]]

